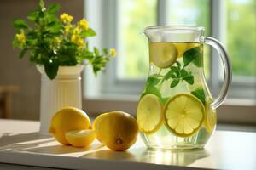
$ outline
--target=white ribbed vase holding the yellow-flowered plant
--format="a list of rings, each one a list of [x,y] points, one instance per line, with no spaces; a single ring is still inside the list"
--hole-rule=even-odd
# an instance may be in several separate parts
[[[50,80],[44,66],[37,65],[41,73],[40,134],[48,135],[52,116],[66,106],[82,108],[81,72],[83,65],[60,66],[57,76]]]

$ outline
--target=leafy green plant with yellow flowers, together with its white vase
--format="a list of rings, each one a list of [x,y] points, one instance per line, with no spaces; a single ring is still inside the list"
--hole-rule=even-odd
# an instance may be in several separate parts
[[[30,62],[37,65],[42,75],[40,103],[40,133],[47,133],[51,116],[67,105],[82,107],[80,73],[84,65],[92,65],[95,75],[105,68],[115,49],[104,48],[102,53],[90,50],[86,37],[96,36],[87,20],[73,24],[73,16],[56,17],[60,5],[45,8],[39,1],[36,10],[27,14],[31,21],[15,20],[17,30],[13,46],[20,48],[19,58],[30,54]]]

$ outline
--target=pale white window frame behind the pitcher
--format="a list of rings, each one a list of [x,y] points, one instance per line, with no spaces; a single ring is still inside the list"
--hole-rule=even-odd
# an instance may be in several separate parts
[[[95,8],[94,10],[102,10],[101,16],[97,22],[102,22],[102,26],[104,29],[99,29],[98,31],[101,32],[99,42],[101,42],[102,47],[108,48],[117,48],[119,49],[119,3],[118,0],[96,0],[96,3],[100,5],[98,9]],[[166,23],[166,11],[167,11],[167,0],[158,0],[157,8],[157,24],[158,26],[164,25]],[[85,12],[88,11],[87,9],[92,6],[92,2],[85,1]],[[225,18],[224,18],[224,1],[222,0],[215,0],[210,1],[210,10],[211,10],[211,37],[217,38],[219,41],[224,43],[225,46]],[[87,9],[86,9],[87,8]],[[90,10],[89,10],[90,11]],[[85,13],[86,18],[90,17],[89,11]],[[95,14],[95,13],[93,13]],[[107,17],[106,17],[107,16]],[[93,19],[92,19],[93,20]],[[101,26],[100,26],[101,27]],[[96,30],[97,31],[97,30]],[[97,32],[98,32],[97,31]],[[146,49],[145,49],[146,50]],[[118,50],[119,51],[119,50]],[[221,65],[220,57],[215,50],[211,48],[211,56],[210,56],[210,78],[207,82],[209,88],[211,89],[212,95],[217,96],[219,90],[222,86],[221,80],[221,70],[222,67],[218,66],[216,68],[212,65]],[[117,96],[117,95],[134,95],[136,98],[139,97],[143,90],[143,84],[146,80],[146,77],[143,79],[119,79],[118,74],[116,74],[117,70],[117,59],[113,59],[108,67],[107,71],[105,72],[102,77],[100,77],[100,85],[98,87],[93,87],[94,89],[97,88],[96,94],[104,94],[105,96]],[[86,71],[87,72],[87,71]],[[90,76],[89,73],[86,73],[86,82],[89,82],[91,79],[94,79]],[[88,78],[89,77],[89,78]],[[247,83],[244,83],[246,81]],[[98,82],[98,81],[97,81]],[[256,87],[255,78],[252,77],[233,77],[232,88],[230,88],[229,98],[249,98],[249,99],[256,99],[256,94],[253,93],[254,88]],[[88,88],[87,88],[88,89]],[[246,90],[246,93],[244,91]],[[87,91],[87,90],[85,90]],[[93,96],[94,94],[90,95]],[[88,95],[87,95],[88,96]]]

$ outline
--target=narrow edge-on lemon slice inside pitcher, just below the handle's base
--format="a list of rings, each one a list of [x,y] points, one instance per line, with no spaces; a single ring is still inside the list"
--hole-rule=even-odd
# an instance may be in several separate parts
[[[211,104],[212,104],[212,99],[207,97],[207,99],[206,99],[206,116],[205,116],[203,123],[204,123],[208,133],[212,133],[212,130],[214,129],[216,122],[217,122],[216,111],[212,109]]]

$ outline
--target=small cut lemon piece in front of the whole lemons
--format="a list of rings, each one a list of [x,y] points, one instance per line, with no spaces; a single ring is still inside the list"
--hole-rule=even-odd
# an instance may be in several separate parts
[[[65,133],[68,144],[74,147],[87,147],[96,138],[96,133],[94,130],[73,130]]]

